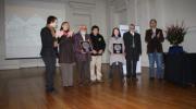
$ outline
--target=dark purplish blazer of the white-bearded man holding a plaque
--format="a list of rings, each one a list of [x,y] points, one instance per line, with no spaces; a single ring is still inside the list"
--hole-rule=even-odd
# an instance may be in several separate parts
[[[74,36],[74,53],[76,61],[90,61],[90,53],[82,53],[81,41],[83,41],[83,37],[81,33],[75,34]],[[86,34],[85,40],[90,41],[90,36]]]

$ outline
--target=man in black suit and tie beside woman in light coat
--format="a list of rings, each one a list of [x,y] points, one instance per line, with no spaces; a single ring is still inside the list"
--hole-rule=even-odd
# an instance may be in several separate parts
[[[136,65],[142,55],[140,35],[135,32],[135,25],[130,24],[130,31],[123,35],[126,59],[126,77],[137,80]]]

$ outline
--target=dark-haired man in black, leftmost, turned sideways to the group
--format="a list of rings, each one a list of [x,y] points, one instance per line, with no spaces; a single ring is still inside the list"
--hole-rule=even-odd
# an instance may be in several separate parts
[[[49,16],[47,20],[47,26],[40,32],[41,37],[41,51],[40,56],[46,65],[46,90],[51,93],[53,88],[53,75],[56,72],[56,58],[57,52],[54,48],[58,46],[54,41],[54,27],[57,26],[57,17]]]

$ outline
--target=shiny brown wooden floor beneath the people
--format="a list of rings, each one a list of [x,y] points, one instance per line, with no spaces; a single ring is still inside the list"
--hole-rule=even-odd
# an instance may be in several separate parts
[[[196,109],[196,88],[148,80],[147,69],[139,81],[62,87],[59,71],[57,92],[45,93],[44,68],[0,71],[0,109]],[[107,75],[108,68],[103,68]],[[117,73],[117,72],[115,72]]]

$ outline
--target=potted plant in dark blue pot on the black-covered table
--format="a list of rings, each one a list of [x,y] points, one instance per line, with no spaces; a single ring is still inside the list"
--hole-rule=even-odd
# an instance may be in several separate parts
[[[184,26],[184,22],[182,24],[172,24],[167,27],[167,40],[172,45],[169,48],[169,53],[181,53],[184,52],[183,47],[179,46],[184,41],[184,37],[187,33],[187,27]]]

